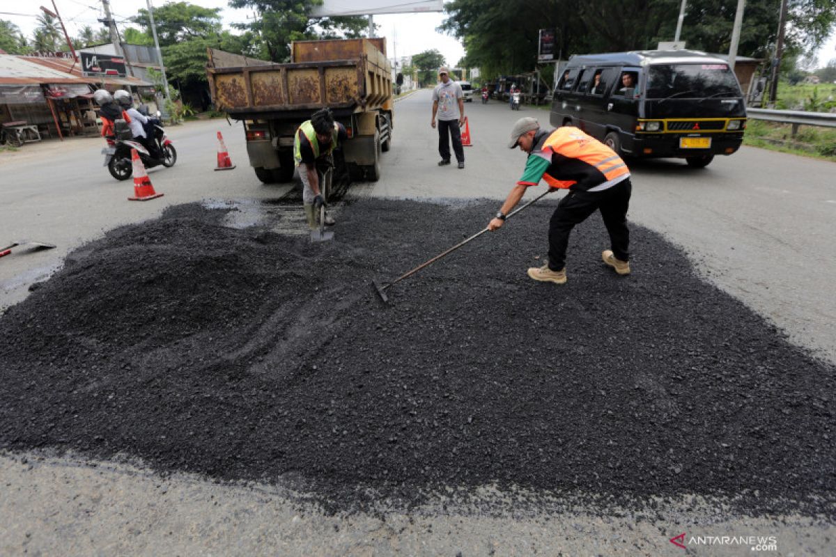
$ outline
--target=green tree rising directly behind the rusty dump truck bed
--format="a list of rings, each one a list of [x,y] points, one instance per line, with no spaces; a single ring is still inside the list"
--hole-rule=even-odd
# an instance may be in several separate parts
[[[236,28],[248,29],[263,41],[263,58],[288,62],[292,41],[315,38],[358,38],[368,28],[366,18],[359,16],[311,18],[317,0],[230,0],[231,8],[254,8],[258,14],[252,23],[239,23]]]

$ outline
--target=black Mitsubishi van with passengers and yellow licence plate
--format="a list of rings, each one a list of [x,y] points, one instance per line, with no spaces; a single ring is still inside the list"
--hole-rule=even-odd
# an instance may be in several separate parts
[[[684,158],[701,168],[740,148],[746,105],[722,58],[689,50],[589,54],[569,58],[550,120],[618,154]]]

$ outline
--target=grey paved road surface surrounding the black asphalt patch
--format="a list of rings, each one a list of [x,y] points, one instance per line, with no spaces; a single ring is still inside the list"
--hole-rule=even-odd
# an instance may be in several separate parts
[[[466,104],[466,114],[473,138],[466,168],[439,168],[429,91],[402,99],[383,178],[354,185],[352,195],[489,198],[498,205],[525,162],[523,153],[505,147],[512,123],[534,115],[546,124],[548,111],[523,107],[517,113],[477,99]],[[236,170],[213,171],[218,129]],[[75,247],[115,226],[153,218],[166,205],[201,199],[247,203],[288,190],[256,179],[239,125],[196,122],[169,133],[179,160],[172,169],[150,171],[165,197],[144,203],[126,200],[132,182],[113,180],[101,166],[101,139],[27,144],[0,154],[0,241],[59,245],[52,251],[18,249],[0,259],[0,307],[22,300],[28,286],[46,279]],[[639,163],[631,168],[630,219],[682,246],[707,280],[767,316],[793,342],[836,362],[833,169],[832,163],[747,148],[705,170],[676,160]],[[473,223],[474,232],[490,216]],[[543,243],[543,252],[545,227],[543,238],[531,240]],[[635,253],[634,269],[641,261]],[[385,520],[329,517],[299,509],[271,486],[216,485],[185,474],[161,479],[141,467],[38,455],[0,456],[0,482],[0,554],[676,554],[681,549],[669,539],[683,531],[774,535],[781,554],[829,554],[828,539],[836,534],[833,524],[734,516],[718,510],[716,501],[688,498],[660,502],[655,513],[642,516],[618,509],[507,516],[502,500],[524,494],[492,494],[487,488],[491,513],[474,512],[478,506],[451,495]],[[747,546],[695,554],[744,551],[751,554]]]

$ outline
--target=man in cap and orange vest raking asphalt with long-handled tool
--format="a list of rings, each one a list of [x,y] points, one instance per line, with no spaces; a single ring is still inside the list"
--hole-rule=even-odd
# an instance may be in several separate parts
[[[528,276],[535,281],[565,283],[569,234],[596,210],[601,212],[609,232],[610,249],[601,254],[604,263],[619,275],[629,275],[627,210],[632,185],[624,160],[578,128],[540,129],[538,121],[530,117],[514,124],[508,147],[517,145],[528,153],[525,171],[488,223],[489,230],[499,230],[526,190],[541,179],[553,189],[568,190],[548,223],[548,261],[542,267],[528,269]]]

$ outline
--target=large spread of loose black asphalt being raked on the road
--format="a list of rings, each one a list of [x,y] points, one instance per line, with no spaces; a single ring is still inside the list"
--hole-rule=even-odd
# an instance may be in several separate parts
[[[181,205],[111,231],[0,318],[0,448],[295,481],[335,509],[440,486],[833,515],[833,366],[632,227],[634,274],[580,225],[528,279],[552,207],[388,291],[495,202],[358,200],[336,239]]]

